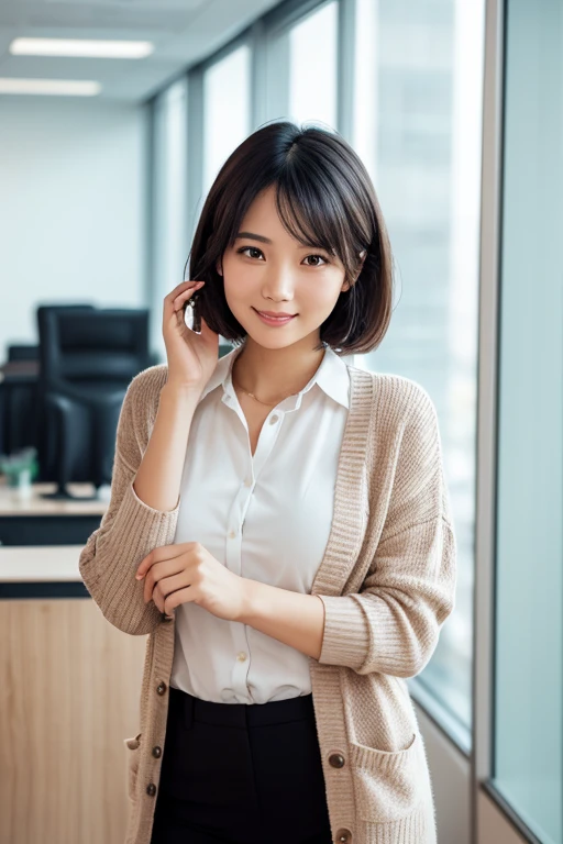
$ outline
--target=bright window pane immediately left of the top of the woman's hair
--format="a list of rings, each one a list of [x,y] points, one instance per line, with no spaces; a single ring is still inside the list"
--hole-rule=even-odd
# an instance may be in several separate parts
[[[230,154],[250,134],[251,51],[244,44],[203,76],[203,197]]]

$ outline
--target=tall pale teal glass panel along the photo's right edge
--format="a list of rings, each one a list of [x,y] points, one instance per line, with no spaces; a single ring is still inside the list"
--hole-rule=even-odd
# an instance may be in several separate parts
[[[563,18],[507,3],[493,782],[563,841]]]

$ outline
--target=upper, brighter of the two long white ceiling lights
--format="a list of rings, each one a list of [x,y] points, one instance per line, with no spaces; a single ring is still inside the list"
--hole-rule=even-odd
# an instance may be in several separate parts
[[[91,41],[87,38],[14,38],[14,56],[75,56],[89,58],[144,58],[154,51],[150,41]]]

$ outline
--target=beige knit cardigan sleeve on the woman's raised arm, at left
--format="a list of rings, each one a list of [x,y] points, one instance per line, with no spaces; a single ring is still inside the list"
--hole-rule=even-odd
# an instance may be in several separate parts
[[[135,580],[135,571],[153,548],[174,541],[179,512],[179,499],[174,510],[162,512],[133,489],[164,385],[162,373],[162,367],[151,367],[129,386],[118,423],[110,502],[79,557],[82,580],[106,619],[132,635],[151,633],[162,622],[154,602],[144,603],[144,581]]]

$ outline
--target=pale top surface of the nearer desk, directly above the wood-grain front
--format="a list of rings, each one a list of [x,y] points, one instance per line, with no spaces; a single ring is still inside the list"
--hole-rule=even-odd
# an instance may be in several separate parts
[[[81,582],[78,557],[82,545],[0,548],[0,584]]]

